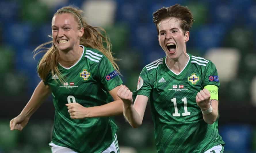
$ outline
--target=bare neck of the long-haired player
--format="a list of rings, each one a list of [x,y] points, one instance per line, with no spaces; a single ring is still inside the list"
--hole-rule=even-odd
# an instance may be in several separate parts
[[[66,68],[73,66],[82,56],[83,48],[78,47],[68,52],[59,50],[60,64]]]

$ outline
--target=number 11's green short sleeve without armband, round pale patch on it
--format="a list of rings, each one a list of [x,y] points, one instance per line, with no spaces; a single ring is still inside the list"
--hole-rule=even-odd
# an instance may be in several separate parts
[[[133,91],[133,95],[144,95],[150,98],[152,91],[152,76],[148,73],[148,70],[144,67],[140,73],[137,90]]]

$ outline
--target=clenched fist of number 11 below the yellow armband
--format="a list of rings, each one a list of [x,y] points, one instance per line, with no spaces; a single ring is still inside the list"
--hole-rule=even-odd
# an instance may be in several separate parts
[[[210,92],[207,89],[199,91],[196,95],[196,104],[205,111],[210,107]]]

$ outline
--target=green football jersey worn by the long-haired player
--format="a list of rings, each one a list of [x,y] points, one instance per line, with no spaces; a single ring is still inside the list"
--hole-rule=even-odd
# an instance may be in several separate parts
[[[114,140],[118,127],[110,117],[71,119],[66,103],[79,103],[93,107],[107,103],[108,91],[123,82],[112,64],[100,51],[84,48],[80,60],[70,68],[59,64],[65,79],[60,83],[57,75],[49,74],[45,85],[49,85],[54,107],[52,142],[76,152],[102,152]]]

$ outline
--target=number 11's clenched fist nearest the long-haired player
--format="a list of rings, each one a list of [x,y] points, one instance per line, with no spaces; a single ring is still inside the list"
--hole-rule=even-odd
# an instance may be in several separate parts
[[[132,105],[132,92],[125,85],[119,88],[117,95],[122,99],[125,105]]]

